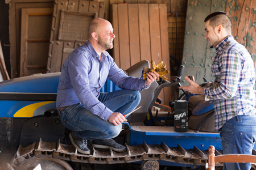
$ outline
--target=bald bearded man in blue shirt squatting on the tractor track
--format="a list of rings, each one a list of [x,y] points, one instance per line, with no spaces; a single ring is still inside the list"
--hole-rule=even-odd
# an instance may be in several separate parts
[[[133,111],[143,90],[154,82],[159,74],[147,73],[147,79],[127,76],[106,52],[113,48],[115,37],[107,20],[96,18],[89,24],[89,41],[76,48],[63,63],[56,106],[60,119],[71,130],[73,146],[82,154],[90,154],[87,140],[98,148],[126,151],[126,147],[114,141],[120,133],[123,114]],[[109,78],[122,90],[100,93]]]

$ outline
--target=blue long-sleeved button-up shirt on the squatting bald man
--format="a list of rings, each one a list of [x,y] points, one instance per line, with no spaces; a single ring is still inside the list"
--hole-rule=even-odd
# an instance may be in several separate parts
[[[90,112],[105,121],[108,120],[113,112],[98,100],[100,90],[107,78],[122,89],[143,90],[150,87],[145,86],[145,80],[127,76],[118,68],[108,52],[102,52],[100,61],[98,54],[88,41],[69,54],[63,63],[56,107],[82,103]]]

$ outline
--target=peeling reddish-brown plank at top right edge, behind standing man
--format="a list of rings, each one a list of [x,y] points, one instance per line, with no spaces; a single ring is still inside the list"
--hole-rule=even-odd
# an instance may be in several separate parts
[[[247,33],[246,49],[253,58],[254,66],[256,65],[256,1],[251,1],[250,4],[250,16],[249,16],[249,27]]]

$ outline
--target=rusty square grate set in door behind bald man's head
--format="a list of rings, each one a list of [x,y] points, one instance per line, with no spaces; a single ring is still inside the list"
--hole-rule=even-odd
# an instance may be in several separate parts
[[[97,13],[62,11],[60,17],[59,40],[86,42],[89,24]]]

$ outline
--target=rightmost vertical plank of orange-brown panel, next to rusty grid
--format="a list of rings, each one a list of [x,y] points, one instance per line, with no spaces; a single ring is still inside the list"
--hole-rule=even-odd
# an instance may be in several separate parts
[[[170,57],[168,48],[168,29],[167,29],[167,8],[164,4],[159,4],[159,19],[160,19],[160,35],[162,47],[162,61],[166,64],[166,69],[170,70]],[[171,74],[164,75],[171,81]],[[164,104],[169,105],[171,100],[171,87],[164,88]]]

